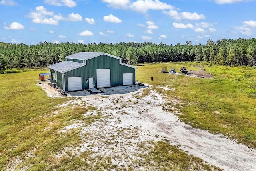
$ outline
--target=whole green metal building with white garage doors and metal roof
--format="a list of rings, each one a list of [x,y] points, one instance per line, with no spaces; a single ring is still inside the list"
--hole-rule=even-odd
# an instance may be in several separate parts
[[[100,52],[79,52],[48,66],[50,82],[64,91],[135,84],[135,69],[122,58]]]

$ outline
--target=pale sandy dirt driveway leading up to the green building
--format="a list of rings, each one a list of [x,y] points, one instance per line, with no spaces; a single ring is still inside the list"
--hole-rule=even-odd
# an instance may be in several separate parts
[[[129,161],[136,157],[133,155],[138,152],[136,143],[168,139],[171,145],[180,145],[180,149],[221,169],[228,171],[256,170],[255,149],[180,122],[175,114],[164,110],[163,106],[166,102],[161,94],[150,90],[149,94],[141,97],[145,88],[150,89],[150,86],[102,88],[100,90],[104,93],[101,94],[90,94],[87,91],[69,93],[69,96],[74,96],[74,98],[67,104],[97,106],[97,112],[101,112],[102,116],[111,115],[112,117],[95,122],[90,127],[84,126],[83,121],[76,121],[63,131],[82,128],[83,143],[76,148],[81,152],[91,150],[102,156],[115,156],[112,162],[119,165],[120,163],[128,165]],[[46,86],[43,89],[47,92],[51,88]],[[54,93],[52,92],[52,94]],[[88,114],[84,114],[84,116]],[[129,132],[134,129],[136,129],[136,134],[132,131]],[[126,130],[126,132],[117,134],[117,132],[120,133],[120,130]],[[93,135],[94,139],[88,140],[84,136],[85,133]],[[112,140],[111,135],[118,135],[118,138]],[[106,143],[111,141],[116,144],[115,148],[110,145],[112,143]],[[63,149],[64,152],[65,150]]]

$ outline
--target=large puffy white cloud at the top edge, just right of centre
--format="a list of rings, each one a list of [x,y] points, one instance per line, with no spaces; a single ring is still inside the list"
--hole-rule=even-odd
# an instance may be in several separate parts
[[[146,13],[148,10],[172,10],[175,7],[159,0],[137,0],[129,8],[136,12]]]

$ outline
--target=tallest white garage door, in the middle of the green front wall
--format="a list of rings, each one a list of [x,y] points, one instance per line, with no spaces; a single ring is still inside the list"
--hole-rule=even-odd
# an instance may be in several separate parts
[[[97,69],[97,88],[111,86],[110,69]]]

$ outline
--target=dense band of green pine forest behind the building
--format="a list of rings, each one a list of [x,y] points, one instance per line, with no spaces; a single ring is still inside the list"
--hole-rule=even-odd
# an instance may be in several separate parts
[[[105,52],[122,58],[123,63],[160,63],[204,61],[210,64],[241,66],[256,65],[256,39],[209,39],[206,45],[166,45],[144,43],[49,43],[37,45],[0,42],[0,70],[46,67],[64,61],[65,57],[78,52]]]

